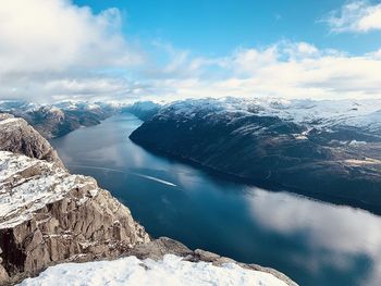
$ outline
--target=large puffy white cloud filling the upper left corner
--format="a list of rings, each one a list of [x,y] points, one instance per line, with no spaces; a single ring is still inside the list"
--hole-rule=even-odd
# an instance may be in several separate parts
[[[120,32],[121,14],[109,9],[94,14],[69,0],[4,0],[0,5],[0,98],[51,100],[75,83],[105,95],[115,87],[94,73],[142,64],[144,54]],[[72,83],[58,88],[58,82]],[[81,84],[84,85],[84,84]],[[54,88],[52,88],[54,86]],[[96,90],[96,87],[100,87]]]

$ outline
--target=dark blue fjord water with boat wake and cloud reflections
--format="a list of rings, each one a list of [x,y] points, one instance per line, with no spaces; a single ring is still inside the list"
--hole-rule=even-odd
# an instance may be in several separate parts
[[[381,216],[152,154],[128,139],[140,124],[116,115],[51,142],[72,173],[97,178],[153,237],[271,266],[300,285],[380,285]]]

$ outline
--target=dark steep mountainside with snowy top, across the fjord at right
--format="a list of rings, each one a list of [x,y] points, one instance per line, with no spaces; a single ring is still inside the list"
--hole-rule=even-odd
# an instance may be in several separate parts
[[[381,101],[187,100],[135,142],[265,187],[380,210]]]

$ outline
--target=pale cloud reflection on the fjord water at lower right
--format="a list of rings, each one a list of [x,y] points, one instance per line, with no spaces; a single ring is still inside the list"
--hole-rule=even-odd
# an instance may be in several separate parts
[[[295,251],[291,260],[314,275],[336,269],[358,275],[358,285],[380,285],[381,219],[364,210],[307,200],[292,194],[255,189],[247,195],[250,214],[261,227],[299,239],[309,254]],[[368,266],[361,273],[358,263]],[[361,275],[362,274],[362,275]]]

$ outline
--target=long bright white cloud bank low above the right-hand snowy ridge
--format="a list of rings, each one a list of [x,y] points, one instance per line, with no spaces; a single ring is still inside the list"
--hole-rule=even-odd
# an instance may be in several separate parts
[[[307,42],[281,41],[262,49],[241,48],[220,59],[189,58],[184,64],[195,61],[197,70],[188,77],[155,83],[165,90],[164,97],[381,98],[379,52],[353,57]]]

